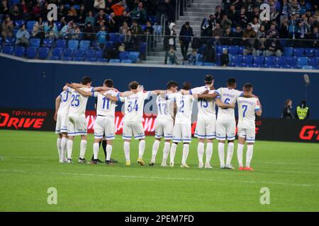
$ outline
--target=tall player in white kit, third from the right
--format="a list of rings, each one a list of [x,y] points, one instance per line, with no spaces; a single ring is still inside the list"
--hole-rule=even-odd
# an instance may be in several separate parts
[[[228,105],[223,102],[220,102],[219,99],[216,99],[216,97],[219,94],[215,90],[215,88],[213,88],[213,83],[213,76],[207,75],[205,77],[205,85],[193,88],[190,92],[196,99],[198,98],[198,119],[195,130],[195,136],[198,138],[198,168],[203,168],[203,153],[205,140],[207,142],[205,168],[212,168],[210,162],[211,156],[213,155],[213,139],[216,138],[216,105],[223,109],[235,107],[235,104]]]

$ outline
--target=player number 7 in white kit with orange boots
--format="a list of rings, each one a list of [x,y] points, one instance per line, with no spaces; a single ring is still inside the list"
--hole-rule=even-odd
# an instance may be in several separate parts
[[[252,94],[252,84],[246,83],[243,88],[243,92],[247,95]],[[256,97],[238,97],[238,147],[237,147],[237,158],[239,163],[239,170],[253,170],[250,167],[252,160],[252,153],[254,149],[254,138],[255,138],[255,114],[257,117],[262,115],[262,107],[259,100]],[[242,150],[244,149],[245,141],[247,143],[246,153],[246,165],[242,164]]]

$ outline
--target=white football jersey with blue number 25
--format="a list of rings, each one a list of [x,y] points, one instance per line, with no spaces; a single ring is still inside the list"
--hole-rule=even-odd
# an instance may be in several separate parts
[[[86,92],[94,92],[94,88],[80,88]],[[67,88],[67,90],[71,93],[71,102],[69,105],[69,116],[84,116],[86,110],[86,103],[89,97],[84,97],[77,92],[77,90],[73,90],[72,88]]]

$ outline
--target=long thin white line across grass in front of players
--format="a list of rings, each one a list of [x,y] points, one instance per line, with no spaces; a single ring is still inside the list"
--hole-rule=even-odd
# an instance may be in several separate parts
[[[23,170],[8,170],[0,169],[0,172],[23,172]],[[72,176],[96,176],[96,177],[113,177],[113,178],[127,178],[127,179],[166,179],[166,180],[184,180],[184,181],[198,181],[198,182],[235,182],[235,183],[245,183],[245,184],[276,184],[284,186],[319,186],[319,184],[297,184],[297,183],[285,183],[285,182],[256,182],[256,181],[234,181],[225,179],[198,179],[190,177],[142,177],[142,176],[130,176],[130,175],[112,175],[112,174],[79,174],[79,173],[68,173],[68,172],[45,172],[50,174],[58,175],[72,175]]]

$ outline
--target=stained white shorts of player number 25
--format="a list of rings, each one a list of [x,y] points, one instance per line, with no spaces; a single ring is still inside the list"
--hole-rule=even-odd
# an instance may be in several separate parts
[[[87,134],[86,119],[84,116],[69,116],[67,123],[67,136],[80,136]]]

